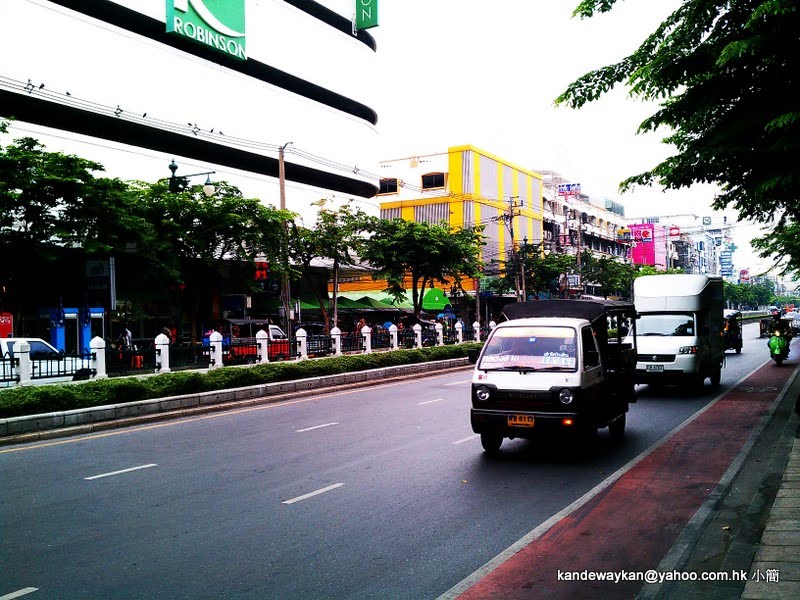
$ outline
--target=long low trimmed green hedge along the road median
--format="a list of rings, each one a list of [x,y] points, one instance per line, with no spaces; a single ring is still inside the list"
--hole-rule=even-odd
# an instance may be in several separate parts
[[[480,343],[470,342],[413,350],[351,354],[302,362],[223,367],[207,373],[177,372],[147,377],[100,379],[74,384],[8,388],[0,391],[0,418],[123,404],[152,398],[462,358],[467,356],[468,350],[480,347]]]

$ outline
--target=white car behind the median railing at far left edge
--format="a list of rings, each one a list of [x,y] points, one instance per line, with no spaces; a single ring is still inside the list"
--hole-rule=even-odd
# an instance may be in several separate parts
[[[18,345],[30,346],[31,383],[55,383],[84,379],[90,360],[62,354],[41,338],[0,338],[0,387],[9,387],[19,381],[17,367]]]

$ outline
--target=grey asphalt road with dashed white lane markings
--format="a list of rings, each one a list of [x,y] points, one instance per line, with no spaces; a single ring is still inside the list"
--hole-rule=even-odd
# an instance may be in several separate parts
[[[0,600],[436,598],[762,364],[757,335],[586,456],[485,457],[468,371],[0,449]]]

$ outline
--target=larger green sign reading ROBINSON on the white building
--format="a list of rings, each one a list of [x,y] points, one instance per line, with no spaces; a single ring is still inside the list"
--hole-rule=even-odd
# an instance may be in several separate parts
[[[245,0],[167,0],[167,31],[247,60]]]

